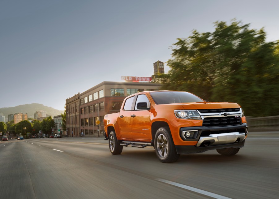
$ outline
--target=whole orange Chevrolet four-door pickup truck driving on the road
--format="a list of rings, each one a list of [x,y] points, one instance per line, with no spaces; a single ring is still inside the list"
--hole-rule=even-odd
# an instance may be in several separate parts
[[[105,115],[105,140],[112,154],[123,146],[153,146],[161,162],[180,154],[216,149],[234,155],[244,146],[248,125],[241,106],[207,102],[182,91],[144,91],[125,98],[120,112]]]

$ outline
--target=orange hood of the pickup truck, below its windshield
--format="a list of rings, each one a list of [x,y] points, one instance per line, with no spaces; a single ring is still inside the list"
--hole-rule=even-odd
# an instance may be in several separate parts
[[[237,103],[229,102],[192,102],[163,104],[163,106],[173,106],[175,109],[222,109],[222,108],[239,108]]]

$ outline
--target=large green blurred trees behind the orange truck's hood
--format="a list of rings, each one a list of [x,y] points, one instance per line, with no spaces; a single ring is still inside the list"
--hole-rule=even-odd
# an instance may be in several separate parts
[[[182,90],[204,100],[239,103],[247,116],[278,115],[279,45],[263,29],[216,22],[215,31],[193,31],[174,44],[164,90]]]

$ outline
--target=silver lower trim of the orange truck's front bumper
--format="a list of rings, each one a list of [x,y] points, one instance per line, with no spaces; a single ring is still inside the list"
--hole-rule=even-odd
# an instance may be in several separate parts
[[[208,146],[225,145],[225,144],[232,144],[235,141],[242,142],[244,139],[245,139],[245,133],[239,133],[239,132],[210,134],[209,136],[201,136],[200,140],[195,146],[199,147],[203,143]]]

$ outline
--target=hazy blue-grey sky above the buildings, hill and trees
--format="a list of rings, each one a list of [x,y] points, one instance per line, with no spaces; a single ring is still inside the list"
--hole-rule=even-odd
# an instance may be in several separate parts
[[[0,0],[0,108],[68,97],[121,76],[150,77],[177,38],[232,19],[279,40],[277,0]],[[165,72],[168,71],[165,64]]]

